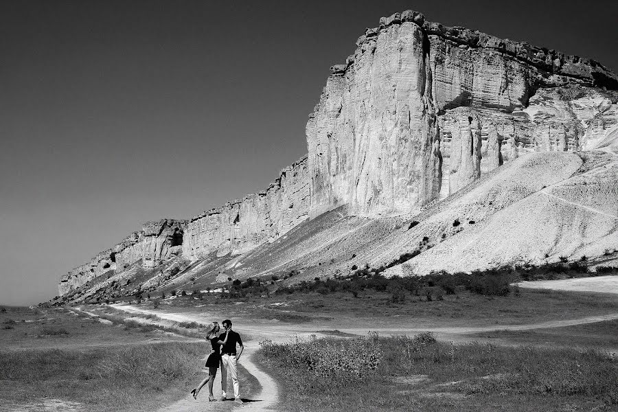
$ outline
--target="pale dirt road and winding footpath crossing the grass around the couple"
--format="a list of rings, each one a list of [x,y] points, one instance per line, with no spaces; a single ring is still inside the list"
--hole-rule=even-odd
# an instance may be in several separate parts
[[[618,277],[617,277],[618,278]],[[588,279],[588,278],[586,278]],[[598,279],[598,278],[594,278]],[[575,280],[575,279],[569,279]],[[221,314],[213,313],[196,313],[196,312],[163,312],[162,310],[148,310],[145,308],[137,308],[128,305],[113,305],[114,308],[124,310],[130,314],[156,314],[161,319],[167,319],[176,322],[196,321],[199,323],[208,323],[205,319],[220,319]],[[453,342],[466,342],[478,340],[478,338],[470,337],[470,334],[479,332],[490,332],[494,330],[531,330],[545,328],[562,328],[564,326],[582,325],[585,323],[595,323],[618,319],[617,313],[604,314],[593,317],[582,317],[579,319],[562,319],[556,321],[545,321],[538,323],[529,323],[527,325],[486,325],[486,326],[455,326],[442,328],[429,328],[434,332],[438,339]],[[248,402],[242,407],[242,411],[264,411],[275,409],[275,404],[279,398],[277,385],[271,376],[268,376],[264,371],[258,368],[255,364],[255,352],[258,350],[258,341],[262,339],[271,339],[275,342],[286,342],[293,336],[307,338],[312,334],[321,335],[316,331],[317,325],[286,325],[286,324],[264,324],[255,323],[252,321],[237,320],[234,322],[234,329],[238,330],[245,336],[251,336],[252,340],[245,343],[245,354],[242,356],[240,363],[247,369],[247,372],[253,375],[262,385],[260,392],[253,396],[254,402]],[[367,334],[367,327],[364,328],[345,328],[341,325],[341,332],[364,336]],[[425,332],[428,328],[371,328],[381,335],[389,336],[391,334],[407,334],[414,335],[420,332]],[[215,382],[214,393],[220,393],[220,379]],[[231,402],[230,402],[231,403]],[[199,397],[197,401],[187,396],[179,402],[171,404],[158,412],[193,412],[193,411],[215,411],[221,409],[221,402],[208,402],[208,398]]]

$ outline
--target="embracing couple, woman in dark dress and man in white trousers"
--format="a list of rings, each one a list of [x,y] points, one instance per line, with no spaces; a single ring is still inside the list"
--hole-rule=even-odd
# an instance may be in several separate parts
[[[221,334],[219,334],[220,328],[218,323],[213,322],[208,325],[206,336],[212,346],[212,350],[206,361],[208,377],[200,382],[200,385],[193,389],[191,394],[194,399],[197,399],[198,393],[200,393],[202,387],[208,383],[210,392],[208,401],[211,402],[215,400],[212,394],[212,385],[217,375],[217,368],[221,365],[221,400],[227,399],[225,391],[227,390],[227,374],[229,372],[234,387],[234,401],[242,404],[244,402],[240,399],[240,385],[238,384],[238,371],[236,370],[236,362],[240,359],[240,355],[242,354],[242,340],[240,339],[240,334],[231,330],[231,321],[229,319],[222,321],[222,325],[223,332]],[[236,352],[237,343],[240,347],[238,353]]]

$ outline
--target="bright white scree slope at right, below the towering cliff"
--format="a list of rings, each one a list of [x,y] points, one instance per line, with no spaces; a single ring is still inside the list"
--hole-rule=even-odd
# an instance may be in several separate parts
[[[618,244],[618,161],[608,154],[595,159],[599,152],[593,152],[593,157],[586,157],[585,153],[579,171],[573,168],[575,163],[566,153],[556,153],[560,157],[551,161],[550,170],[551,174],[562,176],[556,183],[542,179],[547,172],[531,173],[535,184],[542,183],[534,193],[505,204],[488,216],[475,218],[474,225],[466,225],[465,230],[387,274],[425,275],[432,271],[474,271],[505,264],[542,264],[560,258],[581,260],[584,256],[595,258],[613,250]],[[531,156],[548,159],[546,154],[524,159],[534,159]],[[505,168],[500,174],[505,172],[516,172],[510,179],[518,181],[527,170]],[[482,187],[470,190],[466,198],[482,197],[479,190]],[[461,216],[462,221],[472,218]]]

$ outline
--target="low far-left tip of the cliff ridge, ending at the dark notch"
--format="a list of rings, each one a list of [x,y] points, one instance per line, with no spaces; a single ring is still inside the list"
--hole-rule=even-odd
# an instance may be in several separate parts
[[[65,295],[104,273],[119,271],[141,260],[152,268],[181,251],[186,220],[161,219],[146,222],[140,231],[131,233],[111,249],[98,253],[87,264],[73,268],[62,276],[58,293]]]

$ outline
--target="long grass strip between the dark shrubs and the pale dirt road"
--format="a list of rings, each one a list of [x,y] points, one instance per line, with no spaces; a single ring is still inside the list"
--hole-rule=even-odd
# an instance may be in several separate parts
[[[466,322],[467,325],[523,324],[556,319],[576,319],[618,312],[618,295],[520,289],[507,296],[488,297],[461,291],[457,295],[433,297],[404,295],[393,302],[387,292],[294,293],[264,297],[222,298],[210,294],[196,301],[178,297],[161,305],[166,310],[222,312],[240,319],[277,319],[284,323],[371,323],[375,319],[397,317],[397,323],[431,325]],[[154,306],[145,301],[144,307]],[[394,320],[393,320],[394,321]]]

